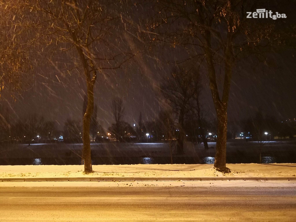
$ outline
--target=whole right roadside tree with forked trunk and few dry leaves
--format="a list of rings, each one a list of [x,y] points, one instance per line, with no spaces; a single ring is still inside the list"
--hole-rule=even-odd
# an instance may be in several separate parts
[[[258,1],[242,0],[160,0],[155,1],[157,13],[147,24],[151,42],[165,42],[173,48],[184,46],[190,55],[183,61],[205,63],[217,116],[214,166],[223,172],[230,172],[226,168],[227,105],[234,64],[247,55],[260,54],[269,39],[278,41],[272,20],[262,25],[247,19],[246,12],[257,5]]]

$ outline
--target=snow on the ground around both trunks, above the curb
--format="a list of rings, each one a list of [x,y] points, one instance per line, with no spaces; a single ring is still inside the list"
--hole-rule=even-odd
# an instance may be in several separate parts
[[[211,164],[138,164],[93,165],[94,173],[83,173],[83,165],[14,165],[0,166],[0,178],[53,178],[53,177],[296,177],[295,163],[227,164],[231,173],[216,171]]]

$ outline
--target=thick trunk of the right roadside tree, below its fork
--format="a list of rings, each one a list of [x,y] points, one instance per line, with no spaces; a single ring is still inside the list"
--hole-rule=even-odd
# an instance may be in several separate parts
[[[223,107],[218,108],[216,112],[218,135],[214,167],[222,172],[228,172],[229,169],[226,168],[227,112]]]

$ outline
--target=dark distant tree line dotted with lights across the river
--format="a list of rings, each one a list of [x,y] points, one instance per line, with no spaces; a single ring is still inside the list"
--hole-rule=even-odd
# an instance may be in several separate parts
[[[84,101],[85,104],[85,101]],[[194,107],[194,106],[193,106]],[[180,138],[178,114],[172,109],[163,109],[158,117],[143,121],[142,113],[139,113],[138,123],[133,125],[125,122],[123,100],[116,97],[112,101],[112,112],[116,115],[114,123],[107,131],[97,121],[97,108],[91,118],[90,138],[93,142],[170,142]],[[197,111],[191,109],[184,114],[183,141],[204,143],[207,149],[207,141],[216,139],[216,121],[209,121],[205,117],[199,119]],[[174,113],[175,112],[175,113]],[[174,115],[175,114],[175,115]],[[114,115],[114,116],[115,116]],[[19,118],[10,124],[9,112],[0,107],[0,143],[82,143],[82,124],[79,120],[68,118],[64,123],[63,131],[57,130],[55,121],[45,120],[36,113]],[[117,123],[116,123],[117,121]],[[147,136],[146,134],[149,134]],[[212,133],[213,136],[210,136]],[[243,133],[243,134],[242,134]],[[296,121],[294,119],[279,121],[275,117],[263,115],[257,112],[255,115],[241,121],[229,121],[227,138],[240,137],[253,141],[266,141],[274,139],[292,139],[296,136]]]

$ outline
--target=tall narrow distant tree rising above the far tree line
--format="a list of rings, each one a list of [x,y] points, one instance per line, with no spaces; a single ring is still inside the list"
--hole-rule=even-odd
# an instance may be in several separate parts
[[[123,123],[123,116],[124,116],[124,107],[123,107],[123,100],[119,97],[116,97],[112,101],[112,113],[115,120],[115,136],[116,140],[120,140],[121,136],[121,128]]]

